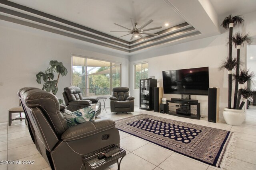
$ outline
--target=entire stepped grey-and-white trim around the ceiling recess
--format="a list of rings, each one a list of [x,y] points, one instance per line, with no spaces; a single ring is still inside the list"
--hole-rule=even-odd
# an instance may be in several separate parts
[[[104,47],[125,51],[127,53],[132,53],[141,49],[148,49],[149,47],[154,47],[168,42],[182,40],[190,35],[201,34],[192,25],[184,22],[157,32],[156,34],[158,34],[158,36],[148,35],[143,41],[142,39],[138,39],[128,42],[14,2],[0,0],[0,4],[5,5],[4,7],[0,6],[0,12],[6,14],[0,14],[0,20],[26,25]],[[196,33],[192,34],[194,32]]]

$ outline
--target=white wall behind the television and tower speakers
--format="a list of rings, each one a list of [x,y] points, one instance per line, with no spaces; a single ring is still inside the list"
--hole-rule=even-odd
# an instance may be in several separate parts
[[[234,28],[236,31],[248,32],[250,35],[256,35],[255,27],[256,12],[244,15],[244,27]],[[148,76],[155,76],[155,78],[162,83],[162,71],[176,70],[194,67],[209,67],[210,87],[220,88],[220,111],[222,117],[222,110],[228,105],[228,74],[227,70],[219,71],[221,61],[228,56],[228,46],[226,45],[228,39],[228,30],[221,28],[223,32],[220,35],[190,41],[179,45],[164,47],[161,49],[154,49],[145,53],[132,55],[130,58],[130,75],[134,75],[134,63],[148,61]],[[233,56],[236,57],[236,49],[233,48]],[[245,49],[242,48],[240,52],[241,61],[245,63]],[[131,94],[135,97],[135,105],[139,105],[139,90],[134,90],[134,77],[130,77]],[[234,88],[233,88],[234,89]],[[180,95],[164,94],[164,98],[180,98]],[[208,96],[191,96],[192,99],[197,99],[201,102],[201,115],[208,114]]]

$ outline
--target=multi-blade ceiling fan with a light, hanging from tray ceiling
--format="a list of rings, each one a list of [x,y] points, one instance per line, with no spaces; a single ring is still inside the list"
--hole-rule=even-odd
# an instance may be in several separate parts
[[[130,41],[132,41],[132,39],[134,37],[141,37],[142,39],[146,39],[144,36],[142,36],[141,34],[146,34],[146,35],[153,35],[153,36],[156,36],[158,34],[155,34],[155,33],[146,33],[144,31],[150,31],[150,30],[153,30],[153,29],[160,29],[162,27],[154,27],[154,28],[148,28],[148,29],[143,29],[144,27],[146,27],[148,24],[150,24],[151,22],[153,22],[153,20],[149,20],[148,22],[146,22],[144,25],[142,25],[141,27],[139,28],[136,28],[136,26],[138,25],[136,22],[134,22],[133,18],[131,18],[131,21],[132,21],[132,27],[133,29],[129,29],[127,27],[124,27],[122,25],[119,25],[117,23],[114,23],[115,25],[118,25],[120,27],[123,27],[125,29],[128,29],[129,31],[110,31],[110,32],[116,32],[116,33],[128,33],[126,35],[130,35],[132,34],[132,38],[130,39]],[[122,35],[121,37],[124,37],[126,35]],[[120,37],[119,37],[120,38]]]

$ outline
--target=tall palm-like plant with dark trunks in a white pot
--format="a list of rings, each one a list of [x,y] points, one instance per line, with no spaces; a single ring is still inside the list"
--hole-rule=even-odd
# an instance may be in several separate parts
[[[249,74],[248,70],[240,70],[240,47],[245,44],[250,44],[251,39],[248,34],[243,35],[241,33],[236,33],[235,36],[232,36],[233,27],[235,25],[242,25],[244,20],[242,16],[231,16],[229,15],[224,19],[221,26],[224,28],[229,27],[229,39],[228,39],[228,58],[222,62],[220,69],[227,68],[228,69],[228,107],[224,108],[222,114],[223,117],[229,125],[241,125],[245,119],[245,112],[242,109],[242,105],[240,105],[240,98],[242,96],[242,85],[240,85],[240,90],[238,91],[238,83],[244,84],[249,78],[252,78],[253,73]],[[232,58],[232,43],[234,43],[235,47],[238,49],[237,58]],[[236,60],[236,62],[234,62]],[[235,65],[234,65],[235,63]],[[236,81],[236,89],[234,95],[234,108],[231,108],[231,93],[232,93],[232,70],[236,66],[236,74],[233,74],[233,80]],[[238,92],[238,96],[237,96]],[[237,109],[236,109],[237,107]]]

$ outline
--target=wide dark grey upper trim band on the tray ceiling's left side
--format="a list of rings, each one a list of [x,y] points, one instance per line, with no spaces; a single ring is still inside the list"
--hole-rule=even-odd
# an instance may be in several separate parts
[[[20,4],[16,4],[14,2],[10,2],[8,0],[0,0],[0,3],[1,4],[4,4],[4,5],[7,5],[7,6],[11,6],[11,7],[14,7],[14,8],[17,8],[17,9],[20,9],[20,10],[23,10],[23,11],[26,11],[26,12],[30,12],[32,14],[36,14],[38,16],[42,16],[42,17],[45,17],[45,18],[48,18],[50,20],[54,20],[54,21],[58,21],[58,22],[61,22],[61,23],[65,23],[67,25],[71,25],[73,27],[77,27],[77,28],[80,28],[80,29],[83,29],[85,31],[89,31],[89,32],[92,32],[92,33],[95,33],[95,34],[98,34],[98,35],[101,35],[103,37],[107,37],[107,38],[111,38],[113,40],[116,40],[116,41],[120,41],[122,43],[126,43],[126,44],[130,44],[130,42],[128,41],[125,41],[123,39],[120,39],[120,38],[117,38],[117,37],[114,37],[112,35],[108,35],[106,33],[102,33],[100,31],[97,31],[95,29],[92,29],[92,28],[88,28],[88,27],[85,27],[83,25],[79,25],[77,23],[74,23],[74,22],[71,22],[71,21],[68,21],[68,20],[64,20],[62,18],[58,18],[56,16],[52,16],[50,14],[46,14],[44,12],[41,12],[41,11],[38,11],[38,10],[35,10],[33,8],[29,8],[27,6],[23,6],[23,5],[20,5]]]

